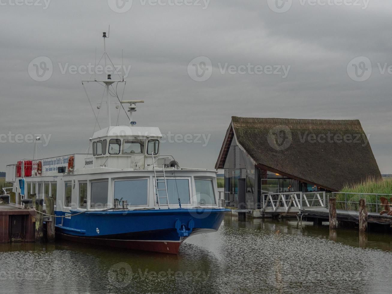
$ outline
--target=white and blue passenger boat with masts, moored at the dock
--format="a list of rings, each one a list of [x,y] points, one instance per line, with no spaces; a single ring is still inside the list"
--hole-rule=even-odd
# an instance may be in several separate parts
[[[108,37],[103,33],[105,62]],[[217,171],[181,167],[172,155],[161,154],[160,129],[136,126],[132,118],[144,101],[120,100],[113,84],[124,78],[105,77],[82,83],[105,86],[108,127],[89,138],[87,154],[38,159],[34,143],[34,158],[7,165],[16,204],[53,198],[56,238],[178,254],[190,236],[217,231],[229,211],[218,194]],[[111,125],[112,96],[117,109],[128,105],[129,125]]]

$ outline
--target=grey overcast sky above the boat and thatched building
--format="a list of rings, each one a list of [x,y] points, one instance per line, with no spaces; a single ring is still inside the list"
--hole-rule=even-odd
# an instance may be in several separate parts
[[[359,119],[392,173],[390,0],[117,1],[0,0],[0,171],[33,156],[16,134],[51,135],[45,157],[86,151],[95,118],[83,65],[102,55],[110,24],[109,56],[121,65],[123,49],[131,66],[124,99],[145,100],[137,125],[191,135],[163,144],[181,166],[212,169],[232,115]],[[97,112],[103,89],[86,89]],[[98,119],[107,126],[105,107]]]

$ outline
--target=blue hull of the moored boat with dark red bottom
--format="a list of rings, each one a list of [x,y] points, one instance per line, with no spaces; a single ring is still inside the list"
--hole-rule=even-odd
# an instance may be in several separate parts
[[[56,233],[70,241],[177,254],[194,234],[218,230],[228,209],[56,211]]]

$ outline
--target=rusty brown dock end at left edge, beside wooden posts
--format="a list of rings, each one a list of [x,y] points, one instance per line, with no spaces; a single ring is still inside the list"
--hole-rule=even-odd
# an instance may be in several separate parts
[[[0,205],[0,243],[34,242],[36,212],[20,205]]]

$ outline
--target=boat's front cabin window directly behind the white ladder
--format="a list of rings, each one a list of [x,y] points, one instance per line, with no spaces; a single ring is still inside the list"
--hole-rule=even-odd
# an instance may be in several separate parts
[[[163,179],[158,179],[162,181]],[[166,179],[167,185],[167,198],[169,198],[169,204],[178,204],[178,194],[180,194],[181,204],[191,203],[189,197],[189,180],[188,179]],[[165,189],[165,183],[158,183],[158,189]],[[166,197],[165,190],[158,191],[160,197]],[[158,203],[158,199],[156,200]],[[161,204],[167,204],[166,199],[160,198]]]

